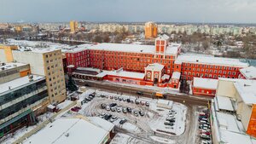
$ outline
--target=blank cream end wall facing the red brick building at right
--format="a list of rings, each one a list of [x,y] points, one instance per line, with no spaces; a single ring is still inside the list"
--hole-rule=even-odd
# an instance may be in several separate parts
[[[221,80],[221,79],[218,80],[218,87],[216,90],[216,95],[235,98],[236,89],[235,89],[233,83],[234,82],[232,82],[232,81],[225,81],[225,80]]]

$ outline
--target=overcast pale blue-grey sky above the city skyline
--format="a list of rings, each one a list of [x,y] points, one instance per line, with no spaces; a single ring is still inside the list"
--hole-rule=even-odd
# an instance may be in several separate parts
[[[256,0],[0,0],[0,22],[256,23]]]

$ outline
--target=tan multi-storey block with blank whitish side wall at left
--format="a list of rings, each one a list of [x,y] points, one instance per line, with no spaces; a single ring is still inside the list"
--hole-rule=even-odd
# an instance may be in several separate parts
[[[65,101],[66,85],[61,50],[29,50],[13,50],[14,60],[30,64],[32,74],[45,76],[50,103]]]

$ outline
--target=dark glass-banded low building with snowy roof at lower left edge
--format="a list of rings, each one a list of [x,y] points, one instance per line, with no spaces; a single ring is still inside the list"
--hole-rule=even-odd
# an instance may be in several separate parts
[[[0,77],[1,78],[1,77]],[[46,80],[30,75],[0,84],[0,137],[35,124],[49,105]]]

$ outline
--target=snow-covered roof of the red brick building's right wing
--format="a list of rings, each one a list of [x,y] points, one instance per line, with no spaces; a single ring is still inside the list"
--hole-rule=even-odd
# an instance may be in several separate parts
[[[178,55],[176,63],[189,62],[195,64],[207,64],[218,66],[241,66],[247,67],[248,64],[239,59],[220,58],[208,55]]]

